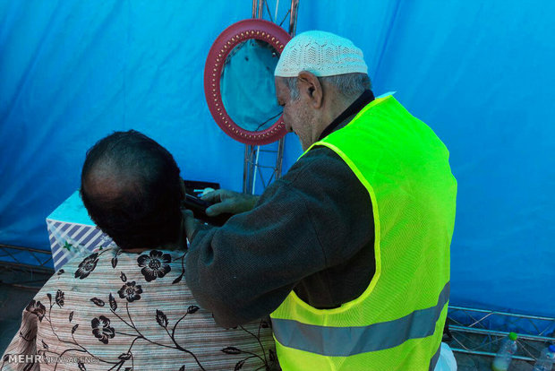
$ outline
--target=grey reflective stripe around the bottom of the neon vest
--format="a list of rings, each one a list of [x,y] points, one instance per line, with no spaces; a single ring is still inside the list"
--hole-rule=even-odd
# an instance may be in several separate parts
[[[355,327],[328,327],[272,318],[274,336],[283,346],[328,357],[347,357],[397,347],[410,339],[425,338],[435,331],[441,310],[449,299],[449,282],[438,304],[415,310],[397,320]]]

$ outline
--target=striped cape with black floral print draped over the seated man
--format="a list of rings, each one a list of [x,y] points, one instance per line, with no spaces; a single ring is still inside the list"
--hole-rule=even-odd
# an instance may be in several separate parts
[[[184,252],[77,257],[25,307],[0,370],[279,369],[268,320],[223,329],[184,282]]]

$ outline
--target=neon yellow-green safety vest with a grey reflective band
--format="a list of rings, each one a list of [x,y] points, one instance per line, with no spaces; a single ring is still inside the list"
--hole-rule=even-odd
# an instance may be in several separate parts
[[[313,145],[335,151],[370,194],[376,272],[359,298],[334,309],[314,308],[292,291],[271,314],[281,367],[433,369],[457,196],[447,148],[391,96]]]

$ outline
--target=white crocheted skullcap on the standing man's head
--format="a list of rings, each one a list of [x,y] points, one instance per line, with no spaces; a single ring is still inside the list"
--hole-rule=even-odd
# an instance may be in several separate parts
[[[298,34],[284,47],[275,76],[296,77],[301,71],[316,76],[368,73],[363,51],[336,34],[312,30]]]

